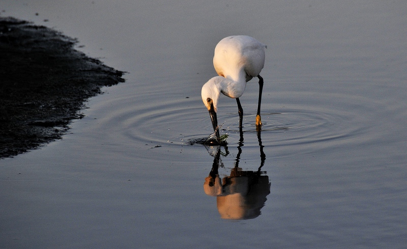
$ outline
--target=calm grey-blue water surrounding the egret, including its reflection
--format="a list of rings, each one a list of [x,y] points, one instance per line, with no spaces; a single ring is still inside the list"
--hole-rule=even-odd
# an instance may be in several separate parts
[[[127,71],[62,140],[0,161],[5,248],[401,248],[407,243],[407,4],[11,1],[2,16]],[[36,15],[38,13],[38,15]],[[43,20],[47,19],[47,22]],[[258,84],[200,100],[230,35],[268,45]]]

